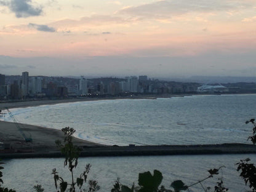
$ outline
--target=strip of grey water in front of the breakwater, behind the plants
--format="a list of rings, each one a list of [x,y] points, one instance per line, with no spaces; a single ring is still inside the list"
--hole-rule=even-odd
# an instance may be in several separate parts
[[[208,177],[207,170],[225,166],[218,175],[202,182],[202,185],[205,188],[210,186],[214,191],[218,178],[223,178],[224,186],[229,188],[229,191],[237,192],[248,190],[235,165],[240,159],[246,158],[256,162],[255,154],[79,158],[74,177],[79,177],[86,164],[90,163],[92,167],[88,179],[97,180],[100,191],[105,192],[111,191],[118,178],[124,185],[138,185],[139,173],[150,171],[153,174],[156,169],[161,171],[164,177],[162,185],[170,188],[170,183],[174,180],[182,180],[185,185],[191,185]],[[42,185],[46,192],[56,191],[51,174],[53,168],[57,169],[65,181],[71,181],[68,167],[63,167],[63,158],[10,159],[4,162],[4,185],[15,188],[18,192],[33,191],[34,185]],[[203,190],[200,185],[196,185],[191,191]]]

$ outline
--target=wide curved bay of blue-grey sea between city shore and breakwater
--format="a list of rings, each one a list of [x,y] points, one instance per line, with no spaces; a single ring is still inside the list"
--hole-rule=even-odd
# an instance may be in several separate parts
[[[256,95],[195,95],[98,100],[11,109],[18,122],[54,129],[108,145],[248,143]],[[6,115],[4,121],[12,121]],[[33,135],[32,135],[33,137]]]

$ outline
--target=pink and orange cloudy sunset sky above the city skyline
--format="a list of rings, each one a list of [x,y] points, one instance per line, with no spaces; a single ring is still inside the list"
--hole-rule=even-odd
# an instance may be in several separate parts
[[[256,76],[255,0],[0,0],[0,73]]]

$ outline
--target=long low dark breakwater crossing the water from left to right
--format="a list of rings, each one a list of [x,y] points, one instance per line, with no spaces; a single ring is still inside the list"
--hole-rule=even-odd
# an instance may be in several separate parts
[[[156,156],[183,154],[249,154],[256,145],[225,143],[217,145],[149,145],[149,146],[84,146],[81,157],[95,156]],[[0,153],[0,158],[62,158],[60,151],[47,153]]]

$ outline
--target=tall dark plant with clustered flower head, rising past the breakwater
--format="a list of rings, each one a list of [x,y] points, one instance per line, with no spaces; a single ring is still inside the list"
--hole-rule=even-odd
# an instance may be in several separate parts
[[[54,183],[55,183],[55,188],[57,189],[58,186],[60,188],[61,192],[66,191],[68,186],[70,186],[69,191],[70,192],[75,192],[76,191],[76,186],[78,186],[79,191],[81,191],[81,188],[84,183],[87,181],[87,174],[89,174],[90,170],[90,164],[87,164],[84,172],[80,174],[76,180],[74,179],[74,169],[76,166],[78,166],[78,158],[79,154],[81,153],[81,149],[78,146],[75,146],[72,139],[73,139],[73,134],[76,130],[70,127],[65,127],[62,129],[62,132],[65,134],[64,138],[64,145],[60,141],[56,141],[57,145],[60,146],[62,154],[65,155],[65,161],[64,161],[64,167],[68,166],[68,169],[70,170],[71,173],[71,183],[65,182],[62,177],[58,175],[58,172],[56,169],[52,169],[52,174],[54,175]],[[89,180],[88,181],[88,186],[89,190],[88,192],[94,192],[98,191],[100,189],[100,186],[98,186],[98,183],[95,180]],[[86,191],[86,190],[84,190]]]

